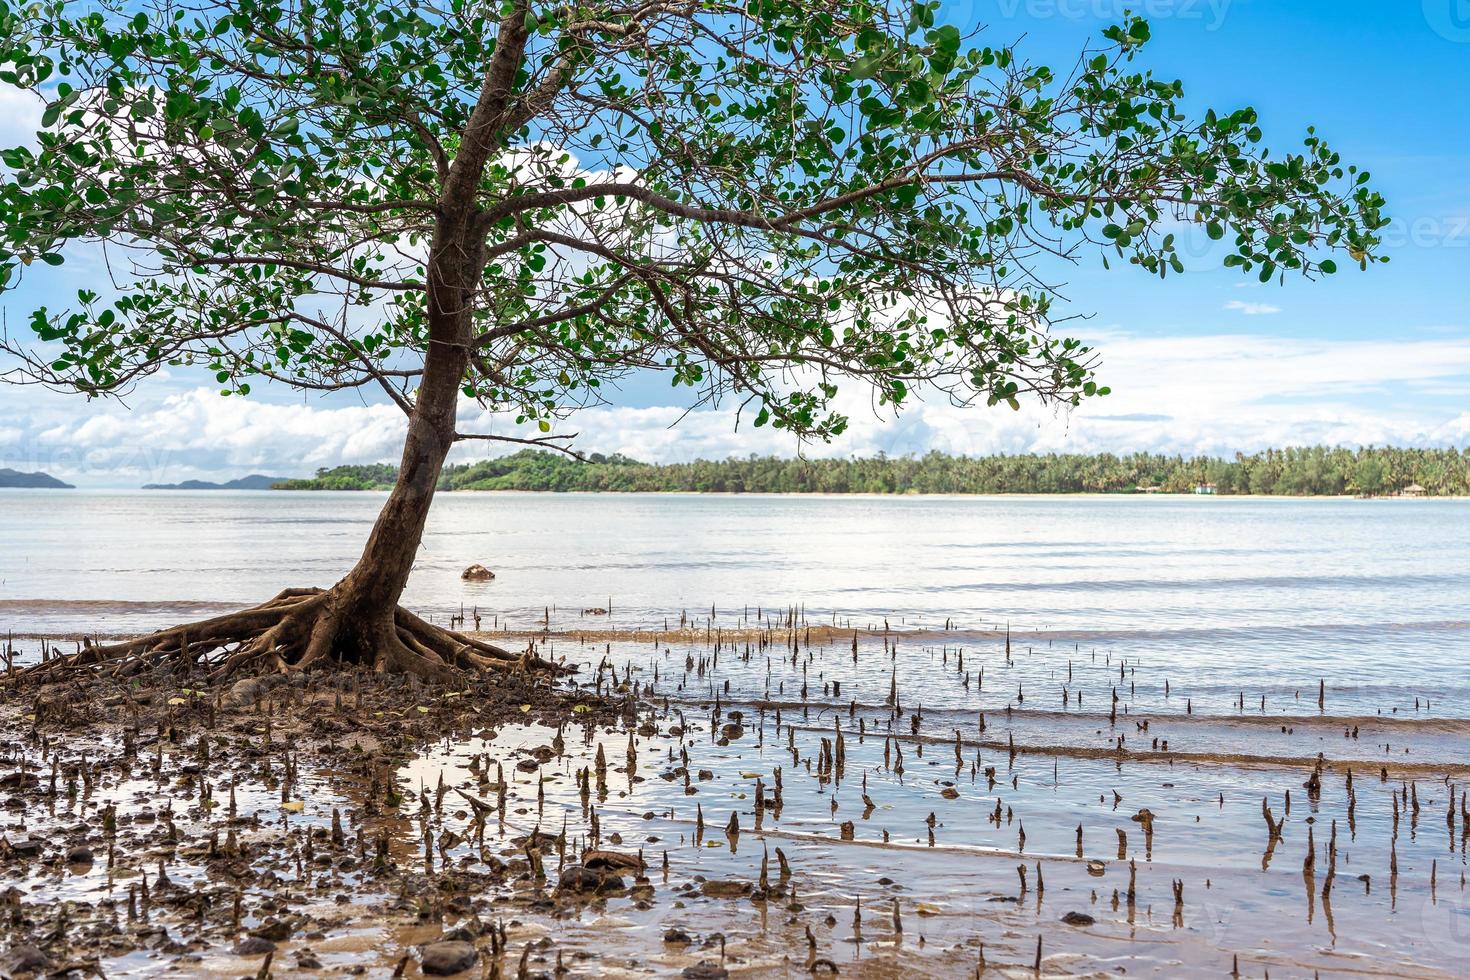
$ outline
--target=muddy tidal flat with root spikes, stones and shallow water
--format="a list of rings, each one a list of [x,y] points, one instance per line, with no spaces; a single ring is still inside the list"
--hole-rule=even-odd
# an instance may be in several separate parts
[[[1411,686],[1232,685],[1127,642],[803,607],[548,608],[495,638],[579,670],[3,688],[0,974],[1470,959],[1470,721]]]

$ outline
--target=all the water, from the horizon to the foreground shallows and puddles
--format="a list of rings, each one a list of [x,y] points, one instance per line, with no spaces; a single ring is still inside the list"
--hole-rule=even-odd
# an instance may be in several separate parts
[[[18,633],[128,632],[325,585],[379,502],[0,495],[0,617]],[[595,814],[604,846],[617,835],[612,846],[644,851],[650,907],[614,896],[517,918],[517,949],[550,939],[575,974],[678,974],[719,958],[723,936],[735,976],[808,976],[813,955],[858,976],[972,976],[982,955],[1033,976],[1039,936],[1048,976],[1227,976],[1236,962],[1244,976],[1454,976],[1470,956],[1467,519],[1460,501],[445,497],[407,602],[440,621],[478,605],[485,630],[519,630],[506,645],[529,633],[579,663],[576,683],[651,685],[639,723],[656,730],[634,736],[632,774],[626,729],[573,720],[538,773],[516,763],[553,732],[506,726],[420,748],[397,776],[475,795],[470,760],[500,763],[498,848],[564,826],[575,860]],[[470,561],[497,580],[460,582]],[[682,632],[644,632],[666,623]],[[744,724],[722,739],[732,711]],[[839,729],[838,779],[819,760]],[[584,801],[575,774],[597,746],[607,790]],[[756,779],[769,796],[778,767],[784,805],[757,817]],[[359,802],[329,771],[303,786],[295,821]],[[276,813],[269,792],[247,792]],[[1270,849],[1263,801],[1285,820]],[[1151,843],[1133,820],[1145,808]],[[470,814],[447,805],[434,821],[465,833]],[[412,861],[420,829],[401,824]],[[756,882],[767,855],[775,877],[776,848],[800,911],[700,893],[701,877]],[[448,857],[479,860],[466,842]],[[28,901],[118,887],[26,886]],[[1095,921],[1061,924],[1073,911]],[[664,943],[670,926],[694,948]],[[350,923],[313,949],[388,976],[432,937],[403,929],[368,939]],[[132,954],[109,974],[168,967]]]

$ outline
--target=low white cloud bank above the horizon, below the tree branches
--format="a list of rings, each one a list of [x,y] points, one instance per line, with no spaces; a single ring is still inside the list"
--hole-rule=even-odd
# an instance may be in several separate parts
[[[1114,394],[1075,411],[1023,406],[958,408],[920,403],[879,417],[861,388],[844,389],[853,419],[810,455],[945,453],[1230,454],[1270,445],[1464,445],[1470,411],[1435,407],[1436,392],[1470,383],[1470,336],[1326,341],[1216,334],[1139,336],[1094,331],[1101,381]],[[137,486],[179,479],[229,479],[262,472],[307,475],[338,463],[397,461],[404,420],[391,406],[220,398],[200,386],[146,386],[132,410],[115,403],[0,388],[0,466],[44,469],[79,485]],[[172,391],[169,391],[172,389]],[[1452,404],[1451,400],[1446,400]],[[509,419],[466,403],[465,430],[517,433]],[[785,433],[735,428],[732,411],[678,406],[600,407],[566,426],[585,451],[641,460],[792,454]],[[520,432],[520,435],[528,435]],[[456,458],[514,451],[465,444]]]

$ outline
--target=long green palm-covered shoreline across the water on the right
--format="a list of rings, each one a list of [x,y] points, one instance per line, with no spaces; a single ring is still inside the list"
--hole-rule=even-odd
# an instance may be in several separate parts
[[[337,466],[276,489],[382,491],[395,466]],[[589,454],[585,461],[522,450],[444,467],[441,491],[710,492],[710,494],[1198,494],[1274,497],[1470,495],[1470,450],[1307,447],[1236,454],[1233,460],[1130,455],[947,455],[873,458],[778,457],[639,463]]]

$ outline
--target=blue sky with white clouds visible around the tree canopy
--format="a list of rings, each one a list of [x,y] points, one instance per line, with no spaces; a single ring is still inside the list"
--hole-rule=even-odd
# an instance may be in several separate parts
[[[1222,269],[1207,242],[1185,241],[1195,262],[1163,282],[1088,256],[1058,270],[1066,311],[1086,317],[1067,332],[1097,345],[1113,394],[1072,411],[929,401],[895,419],[854,392],[844,395],[848,433],[800,445],[736,428],[725,410],[686,411],[686,394],[641,378],[563,430],[584,451],[650,461],[1470,445],[1470,0],[947,0],[942,16],[983,28],[983,43],[1019,40],[1029,60],[1063,69],[1125,9],[1152,25],[1142,65],[1182,78],[1191,106],[1254,106],[1283,150],[1314,125],[1370,170],[1394,219],[1391,263],[1260,285]],[[0,144],[25,141],[38,116],[0,88]],[[24,332],[37,301],[60,303],[101,272],[68,262],[47,279],[57,298],[0,294],[6,329]],[[222,398],[187,370],[150,379],[125,404],[0,385],[0,466],[84,486],[298,476],[395,461],[401,439],[401,413],[370,397],[257,386]],[[497,451],[475,444],[456,458]]]

